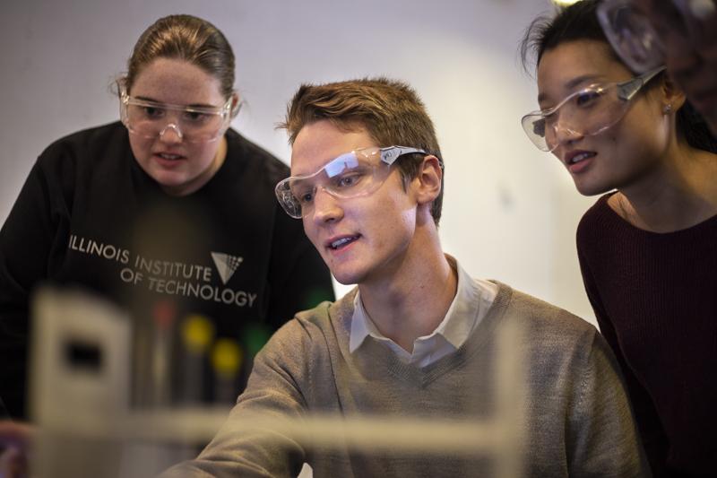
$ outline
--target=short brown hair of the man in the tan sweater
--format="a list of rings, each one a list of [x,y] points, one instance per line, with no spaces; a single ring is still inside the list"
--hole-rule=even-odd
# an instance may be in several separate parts
[[[407,83],[387,78],[364,78],[346,82],[302,84],[289,101],[286,120],[279,125],[289,133],[293,144],[301,128],[327,119],[351,131],[366,128],[379,146],[410,146],[441,157],[436,130],[419,95]],[[423,156],[410,154],[398,162],[404,187],[419,175]],[[431,204],[436,226],[441,219],[441,192]]]

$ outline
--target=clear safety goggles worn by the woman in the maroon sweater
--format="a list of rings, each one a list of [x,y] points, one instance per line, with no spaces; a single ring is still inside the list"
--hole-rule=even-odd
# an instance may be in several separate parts
[[[557,148],[557,133],[598,135],[618,123],[630,106],[630,100],[664,66],[622,83],[592,84],[575,91],[557,106],[533,111],[523,117],[523,130],[539,150],[551,152]]]

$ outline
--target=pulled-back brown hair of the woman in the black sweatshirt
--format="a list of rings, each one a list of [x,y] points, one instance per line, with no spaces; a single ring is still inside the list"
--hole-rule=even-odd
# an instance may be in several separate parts
[[[127,61],[120,82],[127,91],[134,80],[157,58],[186,60],[220,81],[225,98],[234,91],[234,52],[229,41],[212,23],[192,15],[169,15],[144,30]]]

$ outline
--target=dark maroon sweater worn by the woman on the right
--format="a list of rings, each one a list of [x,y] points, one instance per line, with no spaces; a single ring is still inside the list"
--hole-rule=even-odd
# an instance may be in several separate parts
[[[655,476],[717,474],[717,216],[664,234],[602,196],[577,250],[600,331],[618,356]]]

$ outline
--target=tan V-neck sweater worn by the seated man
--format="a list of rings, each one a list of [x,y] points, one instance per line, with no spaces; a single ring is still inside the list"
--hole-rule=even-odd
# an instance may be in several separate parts
[[[496,330],[510,318],[523,326],[526,357],[524,475],[649,475],[617,363],[595,328],[499,286],[471,338],[423,369],[402,363],[373,339],[350,354],[355,291],[299,313],[257,355],[246,392],[212,443],[162,477],[296,476],[304,462],[315,478],[492,476],[495,464],[480,450],[449,456],[309,449],[279,433],[243,427],[242,419],[252,413],[488,417],[495,406]]]

